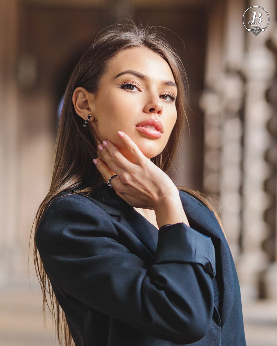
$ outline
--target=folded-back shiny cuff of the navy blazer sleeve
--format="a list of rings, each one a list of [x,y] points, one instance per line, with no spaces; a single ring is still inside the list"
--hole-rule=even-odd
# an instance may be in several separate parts
[[[213,279],[215,269],[215,249],[207,237],[183,222],[164,225],[159,229],[155,263],[184,262],[200,264]]]

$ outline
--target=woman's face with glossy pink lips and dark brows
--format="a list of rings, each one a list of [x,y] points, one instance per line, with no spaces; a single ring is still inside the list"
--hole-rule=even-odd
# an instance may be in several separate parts
[[[126,133],[146,157],[155,157],[176,122],[176,96],[173,74],[161,56],[148,48],[125,49],[111,59],[93,95],[94,128],[101,140],[110,140],[129,160],[118,131]]]

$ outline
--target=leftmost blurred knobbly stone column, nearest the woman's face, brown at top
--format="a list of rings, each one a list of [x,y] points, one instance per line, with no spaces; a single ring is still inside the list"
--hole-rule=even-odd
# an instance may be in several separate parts
[[[222,74],[223,52],[219,47],[223,44],[223,27],[224,1],[218,1],[209,12],[205,90],[199,102],[200,108],[204,111],[203,188],[217,199],[219,199],[222,111],[216,85]]]

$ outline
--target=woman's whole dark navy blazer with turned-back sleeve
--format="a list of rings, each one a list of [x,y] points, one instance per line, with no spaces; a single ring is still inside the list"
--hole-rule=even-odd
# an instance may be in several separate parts
[[[202,202],[180,198],[191,227],[157,230],[105,183],[47,208],[35,241],[76,346],[246,345],[222,230]]]

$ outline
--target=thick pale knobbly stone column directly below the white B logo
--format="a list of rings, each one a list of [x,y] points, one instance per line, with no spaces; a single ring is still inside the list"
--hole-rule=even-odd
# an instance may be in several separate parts
[[[255,1],[249,2],[249,7],[256,5]],[[264,0],[259,6],[274,15],[274,1]],[[271,114],[265,93],[275,70],[274,57],[265,46],[270,35],[270,26],[257,36],[251,32],[245,32],[245,35],[247,51],[244,64],[246,86],[242,189],[243,254],[237,267],[244,301],[259,297],[259,275],[268,264],[267,256],[261,248],[268,230],[264,212],[269,203],[268,195],[263,189],[269,174],[269,166],[264,158],[270,143],[266,126]]]

